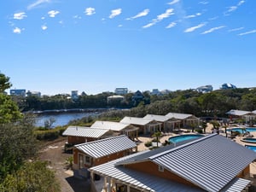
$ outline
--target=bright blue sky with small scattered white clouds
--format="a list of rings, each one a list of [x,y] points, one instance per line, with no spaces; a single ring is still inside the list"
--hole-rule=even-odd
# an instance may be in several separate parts
[[[9,0],[0,71],[55,95],[256,86],[255,0]]]

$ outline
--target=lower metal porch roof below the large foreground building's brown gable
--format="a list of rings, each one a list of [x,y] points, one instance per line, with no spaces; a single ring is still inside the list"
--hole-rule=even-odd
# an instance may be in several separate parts
[[[113,177],[115,180],[132,184],[132,187],[136,187],[142,191],[155,191],[155,192],[203,192],[205,190],[199,188],[193,188],[191,186],[184,185],[182,183],[172,182],[171,180],[155,177],[143,172],[137,172],[135,170],[127,169],[124,166],[116,166],[119,160],[125,160],[127,158],[133,158],[137,155],[148,153],[148,151],[139,152],[137,154],[131,154],[118,160],[112,160],[108,163],[100,166],[91,167],[89,170],[96,172],[96,174],[102,176]]]

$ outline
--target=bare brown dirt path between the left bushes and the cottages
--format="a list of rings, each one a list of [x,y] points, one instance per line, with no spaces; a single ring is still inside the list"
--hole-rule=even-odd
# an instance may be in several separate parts
[[[55,176],[61,184],[61,192],[90,192],[90,183],[73,177],[73,171],[67,169],[66,160],[73,154],[64,153],[66,141],[66,137],[61,137],[53,142],[45,143],[39,158],[50,162],[50,168],[55,171]]]

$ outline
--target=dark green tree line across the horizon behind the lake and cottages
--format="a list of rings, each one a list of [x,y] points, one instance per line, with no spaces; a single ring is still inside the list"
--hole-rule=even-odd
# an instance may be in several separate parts
[[[107,102],[108,96],[113,96],[113,93],[83,95],[76,100],[67,95],[27,96],[26,98],[15,96],[13,100],[23,111],[72,108],[139,108],[154,114],[177,112],[193,113],[198,117],[224,117],[230,109],[246,111],[256,109],[256,89],[249,88],[213,90],[210,93],[176,90],[160,96],[152,96],[148,91],[145,91],[142,92],[142,95],[142,98],[136,100],[133,98],[133,93],[128,93],[122,102]]]

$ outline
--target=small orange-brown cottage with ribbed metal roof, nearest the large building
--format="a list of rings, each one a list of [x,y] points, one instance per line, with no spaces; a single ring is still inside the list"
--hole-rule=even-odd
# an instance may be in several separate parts
[[[73,148],[75,176],[88,176],[88,168],[116,160],[137,151],[137,144],[125,135],[82,143]]]

